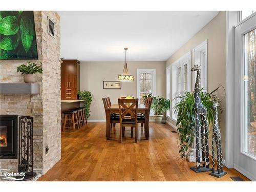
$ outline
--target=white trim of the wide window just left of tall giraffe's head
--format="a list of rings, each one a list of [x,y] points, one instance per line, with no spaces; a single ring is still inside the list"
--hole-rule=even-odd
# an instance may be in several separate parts
[[[188,53],[186,53],[185,55],[183,55],[182,57],[180,57],[179,59],[177,59],[175,62],[173,62],[170,67],[171,67],[171,71],[170,71],[170,79],[171,79],[171,83],[170,83],[170,100],[172,101],[174,98],[173,98],[173,83],[172,83],[172,79],[173,79],[173,70],[175,69],[176,70],[176,77],[177,77],[177,73],[178,73],[178,68],[179,67],[182,67],[181,68],[181,84],[182,84],[182,87],[183,87],[183,63],[187,61],[187,91],[191,91],[191,51],[189,51]],[[177,90],[177,81],[176,81],[176,90]],[[183,88],[182,88],[183,90]],[[174,114],[173,114],[173,108],[174,108],[174,102],[171,102],[170,103],[171,105],[171,108],[170,108],[170,115],[172,116],[172,120],[174,122],[177,122],[177,119],[174,117]]]

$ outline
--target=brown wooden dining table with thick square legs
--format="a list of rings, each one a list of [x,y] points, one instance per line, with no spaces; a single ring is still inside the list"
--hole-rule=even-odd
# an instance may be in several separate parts
[[[110,106],[108,106],[108,108],[106,108],[106,139],[108,140],[110,139],[110,118],[112,113],[119,113],[118,104],[111,104]],[[148,122],[150,120],[150,109],[145,104],[138,104],[138,113],[145,114],[145,138],[148,139],[150,137],[150,130],[148,127]]]

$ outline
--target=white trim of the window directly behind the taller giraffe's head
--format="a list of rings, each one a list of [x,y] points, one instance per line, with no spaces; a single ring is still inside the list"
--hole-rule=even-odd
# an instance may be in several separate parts
[[[206,54],[206,61],[204,63],[204,65],[205,65],[205,68],[204,68],[205,81],[203,82],[203,84],[200,83],[200,88],[205,88],[204,91],[207,92],[208,91],[208,39],[205,39],[203,42],[201,42],[201,44],[199,44],[192,50],[194,62],[195,62],[195,53],[200,52],[202,50],[205,50],[205,54]],[[199,64],[195,63],[195,65],[199,65]],[[201,65],[201,63],[200,63],[200,65]],[[196,82],[196,73],[193,73],[192,74],[192,84],[195,84],[195,82]]]

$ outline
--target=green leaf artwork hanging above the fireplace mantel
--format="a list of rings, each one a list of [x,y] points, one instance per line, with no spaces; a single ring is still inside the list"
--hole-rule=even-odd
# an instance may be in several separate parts
[[[33,11],[0,11],[0,59],[38,59]]]

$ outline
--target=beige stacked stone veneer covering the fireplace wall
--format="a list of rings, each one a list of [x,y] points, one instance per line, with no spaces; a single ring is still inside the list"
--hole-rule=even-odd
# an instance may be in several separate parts
[[[55,22],[55,38],[48,34],[47,16]],[[34,117],[34,171],[46,173],[60,160],[61,110],[60,110],[60,18],[55,11],[34,11],[38,60],[43,73],[37,74],[40,94],[0,95],[1,114]],[[28,60],[1,60],[1,82],[24,82],[16,72],[17,66]],[[49,151],[45,154],[45,147]],[[0,169],[17,171],[17,159],[0,159]]]

